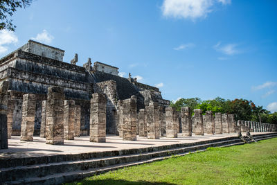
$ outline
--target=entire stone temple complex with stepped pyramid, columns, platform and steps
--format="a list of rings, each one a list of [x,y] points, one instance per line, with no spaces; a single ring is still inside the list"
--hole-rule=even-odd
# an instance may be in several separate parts
[[[77,54],[70,63],[63,56],[29,40],[0,59],[0,184],[62,184],[242,144],[241,132],[258,141],[277,136],[277,125],[233,114],[179,112],[130,73],[122,78],[109,64],[89,58],[79,67]]]

